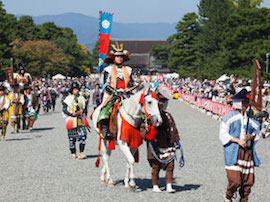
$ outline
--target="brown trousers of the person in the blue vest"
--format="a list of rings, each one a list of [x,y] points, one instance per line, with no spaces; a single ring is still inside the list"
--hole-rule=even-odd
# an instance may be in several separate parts
[[[244,151],[244,149],[240,148],[238,151],[238,160],[253,162],[252,149]],[[251,187],[254,185],[254,182],[255,182],[254,165],[247,167],[247,166],[239,165],[237,163],[236,166],[240,167],[241,169],[244,169],[246,173],[243,173],[244,170],[240,172],[240,171],[226,169],[227,178],[228,178],[226,198],[231,199],[234,193],[240,187],[239,189],[239,194],[241,197],[240,201],[246,202],[248,201],[248,195],[251,192]],[[251,170],[253,172],[250,172]]]

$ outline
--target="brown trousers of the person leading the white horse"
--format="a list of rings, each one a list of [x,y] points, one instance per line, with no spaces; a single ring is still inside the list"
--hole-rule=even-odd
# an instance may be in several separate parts
[[[166,170],[166,184],[173,182],[173,170],[174,170],[174,161],[164,165],[159,163],[156,159],[149,160],[150,165],[152,166],[152,183],[153,185],[158,185],[159,180],[159,171],[160,169]]]

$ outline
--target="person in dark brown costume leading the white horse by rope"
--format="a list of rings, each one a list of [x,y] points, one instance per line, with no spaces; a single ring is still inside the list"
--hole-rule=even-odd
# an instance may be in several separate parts
[[[174,170],[174,160],[172,159],[172,157],[176,152],[175,148],[179,143],[180,137],[172,115],[164,110],[166,108],[168,99],[160,93],[158,93],[158,98],[159,98],[160,114],[162,117],[162,125],[157,127],[156,130],[150,127],[148,132],[146,132],[147,134],[145,135],[145,137],[148,140],[147,159],[150,166],[152,167],[153,191],[161,192],[161,190],[158,187],[158,180],[159,180],[159,171],[163,169],[166,170],[167,192],[173,193],[175,192],[175,190],[172,188],[173,170]],[[145,133],[143,132],[144,126],[142,126],[141,129],[142,129],[141,132]],[[161,163],[156,159],[155,156],[163,161],[169,159],[172,159],[172,161],[168,161],[168,163]]]

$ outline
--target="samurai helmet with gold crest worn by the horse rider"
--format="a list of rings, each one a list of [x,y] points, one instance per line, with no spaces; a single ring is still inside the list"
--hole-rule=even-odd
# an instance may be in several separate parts
[[[104,62],[107,64],[113,64],[114,63],[114,57],[115,56],[123,56],[123,62],[129,61],[129,55],[130,52],[127,50],[124,50],[124,45],[120,44],[116,41],[115,44],[112,44],[112,50],[105,58]]]

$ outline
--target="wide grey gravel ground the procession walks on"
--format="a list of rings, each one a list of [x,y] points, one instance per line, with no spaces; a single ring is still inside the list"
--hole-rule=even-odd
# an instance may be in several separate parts
[[[110,167],[116,185],[98,182],[95,168],[97,135],[88,135],[87,160],[73,160],[61,108],[39,117],[32,133],[10,135],[0,142],[0,201],[223,201],[226,176],[222,146],[218,139],[219,123],[180,101],[171,100],[185,151],[186,166],[175,169],[175,194],[151,192],[151,168],[146,160],[146,145],[140,147],[140,163],[135,166],[135,192],[123,185],[124,155],[116,149]],[[270,139],[260,140],[257,153],[262,166],[256,169],[256,184],[250,201],[270,201]],[[101,164],[102,165],[102,164]],[[164,188],[164,172],[161,172]]]

